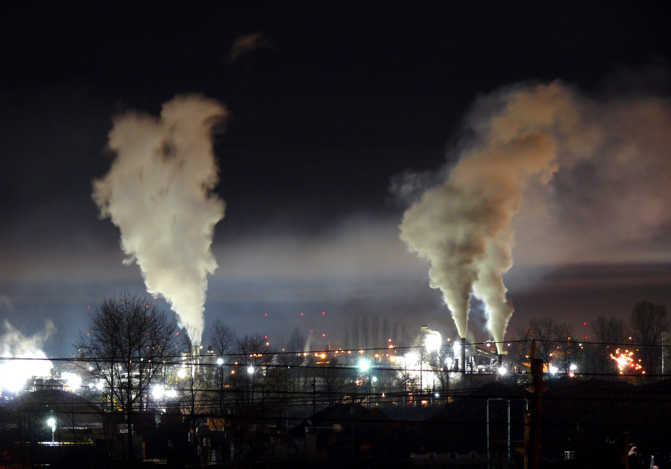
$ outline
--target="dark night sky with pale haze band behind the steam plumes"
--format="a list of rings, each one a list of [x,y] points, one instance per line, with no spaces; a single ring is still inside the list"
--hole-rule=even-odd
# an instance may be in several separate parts
[[[66,354],[87,306],[123,288],[144,293],[138,267],[121,265],[117,228],[97,218],[91,180],[109,168],[112,115],[158,113],[174,94],[199,92],[231,113],[216,141],[227,210],[208,323],[278,342],[294,326],[337,341],[358,314],[450,328],[425,265],[398,240],[392,180],[437,170],[479,94],[556,78],[599,92],[622,70],[668,68],[671,52],[662,3],[465,5],[3,7],[0,316],[26,333],[54,319],[46,348]],[[236,40],[254,34],[256,47],[231,60]],[[664,259],[508,275],[511,332],[543,314],[582,327],[671,299]],[[474,314],[476,334],[482,324]]]

